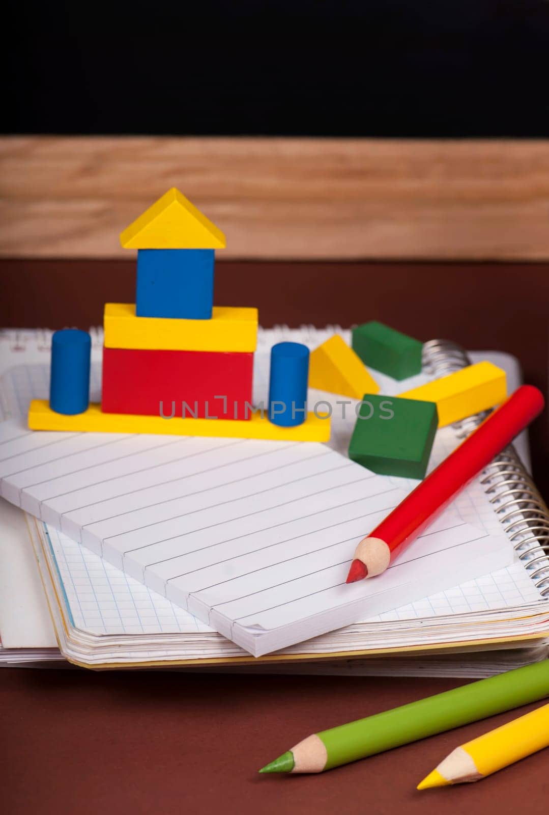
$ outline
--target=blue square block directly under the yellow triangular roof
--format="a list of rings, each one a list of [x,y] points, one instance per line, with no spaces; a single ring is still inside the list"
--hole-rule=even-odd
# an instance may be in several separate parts
[[[138,249],[138,317],[210,319],[213,249]]]

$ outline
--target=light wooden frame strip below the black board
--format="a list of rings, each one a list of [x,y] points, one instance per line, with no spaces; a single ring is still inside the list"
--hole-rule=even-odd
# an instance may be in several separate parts
[[[127,258],[179,187],[222,258],[549,258],[549,141],[0,139],[0,255]]]

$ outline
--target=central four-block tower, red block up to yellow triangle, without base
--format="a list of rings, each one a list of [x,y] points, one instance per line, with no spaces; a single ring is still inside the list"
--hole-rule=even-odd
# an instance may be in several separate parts
[[[247,420],[257,309],[213,306],[222,231],[173,188],[121,245],[138,250],[136,300],[105,306],[103,412]]]

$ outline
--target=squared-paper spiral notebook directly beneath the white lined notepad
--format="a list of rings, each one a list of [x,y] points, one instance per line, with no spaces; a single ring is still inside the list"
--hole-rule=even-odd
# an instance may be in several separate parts
[[[282,329],[279,337],[271,331],[264,332],[264,337],[260,333],[254,380],[256,399],[265,398],[266,351],[273,341],[293,339],[305,341],[314,347],[331,333],[331,328],[310,329],[310,332],[305,329],[299,332]],[[100,345],[98,337],[94,354],[97,354]],[[7,368],[0,371],[0,397],[4,414],[23,415],[29,399],[47,396],[48,338],[41,341],[37,333],[30,333],[29,337],[4,333],[0,334],[0,350],[2,346],[6,346],[4,350],[7,346],[11,350]],[[6,359],[5,355],[2,355],[2,359]],[[496,361],[499,363],[499,360]],[[503,364],[506,362],[516,365],[512,358],[502,361]],[[414,377],[414,383],[411,380],[396,383],[388,377],[379,378],[384,380],[380,385],[387,394],[425,381],[424,375]],[[93,399],[99,398],[99,382],[100,368],[96,362],[92,367]],[[336,400],[340,399],[331,394],[310,393],[310,399],[317,396],[327,397],[334,407]],[[349,407],[346,420],[342,416],[333,417],[330,447],[345,450],[354,424],[352,411],[353,407]],[[440,430],[429,469],[437,465],[456,443],[452,428]],[[405,479],[384,481],[399,490],[407,491],[415,486],[415,482]],[[471,522],[478,529],[494,535],[498,534],[500,525],[494,506],[485,496],[485,489],[478,479],[473,482],[455,501],[455,513],[461,522]],[[111,566],[52,526],[39,524],[37,530],[43,532],[39,535],[42,544],[38,546],[40,568],[46,588],[50,580],[55,585],[51,610],[64,653],[69,659],[83,664],[143,664],[150,660],[165,663],[199,659],[204,662],[204,659],[244,654],[238,646],[220,637],[206,623],[182,610],[181,606]],[[529,554],[529,557],[535,557],[535,553]],[[524,563],[515,562],[494,574],[459,585],[455,585],[456,579],[446,590],[419,597],[380,615],[368,616],[367,619],[362,617],[361,623],[299,645],[291,645],[283,650],[283,654],[364,652],[414,646],[421,642],[444,644],[474,640],[481,630],[485,637],[524,637],[547,627],[547,602],[540,598]],[[58,613],[61,615],[59,619],[56,617]]]

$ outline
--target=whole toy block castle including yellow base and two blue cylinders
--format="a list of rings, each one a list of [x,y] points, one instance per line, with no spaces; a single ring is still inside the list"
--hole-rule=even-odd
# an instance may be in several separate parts
[[[32,430],[330,438],[329,418],[307,412],[309,350],[299,343],[271,349],[269,403],[253,406],[257,309],[213,306],[225,236],[191,201],[169,190],[121,245],[137,249],[137,288],[134,303],[105,306],[102,402],[89,403],[89,334],[56,332],[50,400],[31,402]]]

